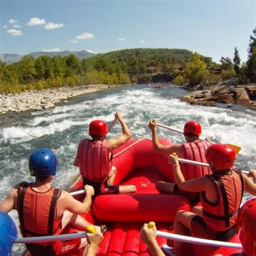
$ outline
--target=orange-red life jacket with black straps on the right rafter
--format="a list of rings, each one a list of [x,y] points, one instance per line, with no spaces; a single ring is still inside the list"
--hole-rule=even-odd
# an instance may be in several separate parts
[[[213,230],[225,231],[235,225],[237,213],[244,193],[244,178],[240,171],[232,170],[232,174],[221,175],[215,173],[206,175],[210,178],[218,191],[218,203],[211,204],[200,192],[200,201],[203,206],[203,218]]]

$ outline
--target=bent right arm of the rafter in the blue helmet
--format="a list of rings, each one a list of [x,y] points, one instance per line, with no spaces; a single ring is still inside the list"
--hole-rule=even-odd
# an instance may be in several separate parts
[[[82,203],[70,196],[68,192],[62,191],[62,196],[59,198],[60,211],[64,212],[65,210],[68,210],[75,214],[87,213],[91,207],[91,197],[94,194],[94,189],[89,185],[84,186],[84,189],[86,190],[86,196]]]

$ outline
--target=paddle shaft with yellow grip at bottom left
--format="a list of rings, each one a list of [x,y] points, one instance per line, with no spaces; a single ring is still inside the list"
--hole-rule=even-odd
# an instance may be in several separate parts
[[[95,233],[95,227],[87,226],[87,232],[92,234]],[[77,233],[70,233],[70,234],[60,234],[60,235],[44,235],[42,237],[24,237],[24,238],[17,238],[15,240],[16,244],[30,244],[32,242],[54,242],[60,240],[73,240],[73,239],[81,239],[86,237],[87,232],[77,232]]]

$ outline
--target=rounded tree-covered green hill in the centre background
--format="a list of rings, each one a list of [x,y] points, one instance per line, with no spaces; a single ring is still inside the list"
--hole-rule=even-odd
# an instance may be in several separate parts
[[[110,74],[127,73],[136,83],[171,82],[192,60],[192,55],[184,49],[126,49],[88,58],[83,65]],[[209,66],[216,65],[210,57],[200,58]]]

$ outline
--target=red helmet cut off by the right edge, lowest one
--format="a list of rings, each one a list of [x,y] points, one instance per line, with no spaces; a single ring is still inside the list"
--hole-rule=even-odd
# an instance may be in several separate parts
[[[246,255],[256,255],[256,198],[248,200],[239,210],[237,232]]]

